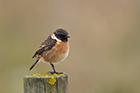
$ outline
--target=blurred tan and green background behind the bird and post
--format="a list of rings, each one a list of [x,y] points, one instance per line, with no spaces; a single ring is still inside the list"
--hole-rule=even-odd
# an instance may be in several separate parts
[[[31,58],[58,27],[71,35],[69,93],[140,93],[139,0],[0,0],[0,93],[23,93],[23,77],[47,72]]]

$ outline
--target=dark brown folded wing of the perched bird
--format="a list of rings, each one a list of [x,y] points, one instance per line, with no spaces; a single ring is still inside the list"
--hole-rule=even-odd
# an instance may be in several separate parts
[[[50,49],[52,49],[55,44],[56,44],[56,40],[52,39],[51,36],[49,36],[40,46],[40,48],[35,52],[35,54],[33,55],[32,58],[36,57],[37,55],[42,55],[44,52],[49,51]]]

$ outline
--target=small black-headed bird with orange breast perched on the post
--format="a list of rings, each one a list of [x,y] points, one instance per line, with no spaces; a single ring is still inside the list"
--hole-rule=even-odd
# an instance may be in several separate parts
[[[69,33],[63,29],[56,29],[48,38],[41,43],[39,49],[34,53],[32,58],[36,61],[31,65],[29,70],[32,70],[37,63],[49,63],[52,67],[52,74],[57,74],[54,63],[63,61],[69,54]]]

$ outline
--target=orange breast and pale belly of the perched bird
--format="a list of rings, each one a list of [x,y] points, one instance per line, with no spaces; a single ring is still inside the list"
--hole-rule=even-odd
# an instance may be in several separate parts
[[[43,58],[47,62],[55,63],[62,61],[67,57],[69,53],[69,43],[61,42],[47,54],[43,55]]]

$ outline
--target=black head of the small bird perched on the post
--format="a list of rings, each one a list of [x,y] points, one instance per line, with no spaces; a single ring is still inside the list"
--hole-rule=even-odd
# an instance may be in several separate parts
[[[63,41],[63,42],[67,42],[67,41],[68,41],[68,38],[70,38],[69,33],[68,33],[66,30],[62,29],[62,28],[57,29],[57,30],[54,32],[54,34],[55,34],[55,36],[56,36],[58,39],[60,39],[60,40]]]

